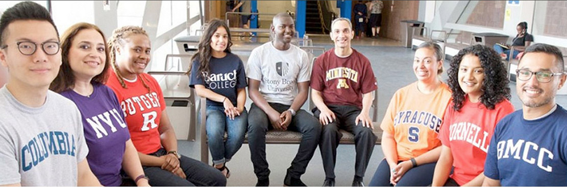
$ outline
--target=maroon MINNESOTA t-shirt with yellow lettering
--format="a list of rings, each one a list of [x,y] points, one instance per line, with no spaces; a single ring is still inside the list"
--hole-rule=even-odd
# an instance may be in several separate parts
[[[341,58],[333,48],[315,60],[311,88],[321,92],[325,105],[362,108],[362,94],[378,89],[378,85],[366,56],[353,49],[350,56]]]

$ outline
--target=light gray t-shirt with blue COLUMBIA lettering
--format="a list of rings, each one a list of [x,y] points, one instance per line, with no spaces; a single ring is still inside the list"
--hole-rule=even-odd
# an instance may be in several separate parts
[[[0,185],[77,186],[77,164],[88,154],[81,113],[48,91],[45,103],[20,103],[0,88]]]

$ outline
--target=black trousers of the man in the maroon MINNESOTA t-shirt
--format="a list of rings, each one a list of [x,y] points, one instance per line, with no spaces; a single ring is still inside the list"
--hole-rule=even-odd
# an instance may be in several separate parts
[[[337,120],[333,123],[323,125],[319,149],[323,159],[325,169],[325,179],[335,179],[335,163],[337,159],[337,146],[341,140],[342,133],[338,129],[344,129],[354,134],[354,146],[356,149],[356,163],[354,164],[354,176],[364,177],[366,167],[374,150],[376,135],[372,129],[362,127],[362,123],[355,124],[354,120],[361,110],[356,106],[327,106],[335,113]],[[315,108],[313,110],[315,118],[319,119],[321,112]],[[380,127],[374,127],[380,128]]]

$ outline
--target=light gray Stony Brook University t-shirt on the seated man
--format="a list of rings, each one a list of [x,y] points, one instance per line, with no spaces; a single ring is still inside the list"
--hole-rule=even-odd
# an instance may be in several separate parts
[[[276,49],[267,42],[252,50],[248,58],[248,79],[260,81],[260,93],[270,103],[291,105],[297,96],[297,83],[311,77],[310,60],[307,53],[291,45],[285,51]]]

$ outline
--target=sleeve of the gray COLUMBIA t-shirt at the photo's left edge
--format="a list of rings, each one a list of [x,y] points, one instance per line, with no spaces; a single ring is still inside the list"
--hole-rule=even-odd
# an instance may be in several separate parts
[[[0,127],[6,127],[0,123]],[[19,172],[18,159],[16,156],[18,154],[15,151],[14,142],[9,136],[9,132],[6,129],[0,129],[0,185],[16,184],[20,183],[21,175]]]

